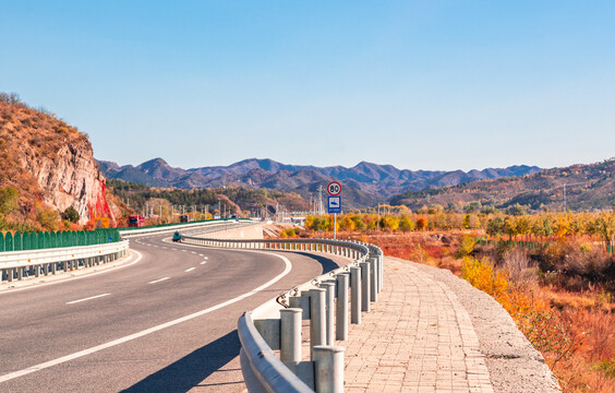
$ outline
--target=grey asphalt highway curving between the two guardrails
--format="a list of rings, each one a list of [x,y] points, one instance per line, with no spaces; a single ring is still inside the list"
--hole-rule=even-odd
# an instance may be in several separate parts
[[[125,267],[0,293],[0,392],[241,392],[237,319],[341,261],[169,236],[132,238]]]

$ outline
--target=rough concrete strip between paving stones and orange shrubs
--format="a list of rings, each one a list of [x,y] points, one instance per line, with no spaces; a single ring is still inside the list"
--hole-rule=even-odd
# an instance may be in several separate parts
[[[479,337],[480,350],[485,355],[495,392],[562,391],[542,355],[517,329],[508,312],[491,296],[472,287],[448,270],[405,260],[399,261],[412,263],[422,272],[431,274],[434,279],[448,286],[457,295],[472,319]]]

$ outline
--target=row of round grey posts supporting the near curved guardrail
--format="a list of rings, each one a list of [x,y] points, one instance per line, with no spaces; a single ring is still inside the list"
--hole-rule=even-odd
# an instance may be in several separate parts
[[[290,307],[280,310],[279,320],[254,320],[272,349],[280,350],[280,360],[315,392],[343,392],[345,348],[335,341],[348,340],[349,321],[361,323],[361,313],[370,312],[371,302],[377,301],[383,258],[372,255],[317,287],[291,296]],[[302,320],[310,320],[308,362],[302,361]]]

